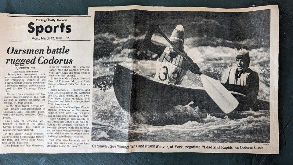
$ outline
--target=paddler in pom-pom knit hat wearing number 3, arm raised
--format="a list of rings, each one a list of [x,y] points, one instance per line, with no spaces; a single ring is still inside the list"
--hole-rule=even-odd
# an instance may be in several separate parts
[[[176,52],[171,45],[165,47],[151,42],[151,38],[157,28],[159,28],[157,24],[152,24],[143,41],[143,45],[148,50],[158,55],[156,75],[154,78],[171,84],[180,85],[188,70],[192,71],[194,74],[198,74],[199,68],[190,57],[186,55],[186,57],[188,57],[187,61]],[[177,25],[169,39],[179,50],[183,51],[183,26]]]

